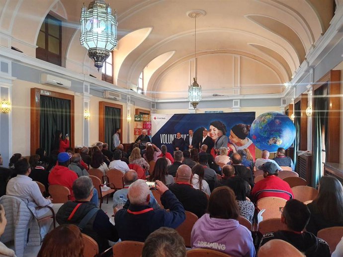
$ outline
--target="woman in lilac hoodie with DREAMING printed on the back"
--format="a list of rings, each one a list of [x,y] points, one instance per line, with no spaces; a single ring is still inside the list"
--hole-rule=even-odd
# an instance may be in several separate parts
[[[213,190],[208,213],[199,218],[191,232],[194,248],[210,248],[232,256],[255,257],[251,232],[239,224],[235,193],[228,187]]]

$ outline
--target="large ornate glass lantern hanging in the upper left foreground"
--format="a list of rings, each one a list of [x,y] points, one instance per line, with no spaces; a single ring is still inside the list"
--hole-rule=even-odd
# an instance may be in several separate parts
[[[117,14],[104,0],[94,0],[84,4],[81,11],[80,42],[88,51],[88,57],[94,61],[99,71],[109,52],[117,46]]]

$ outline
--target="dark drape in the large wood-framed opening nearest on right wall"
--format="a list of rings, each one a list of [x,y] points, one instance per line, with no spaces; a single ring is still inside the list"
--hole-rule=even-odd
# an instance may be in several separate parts
[[[314,110],[313,110],[313,174],[312,174],[312,186],[315,187],[318,184],[319,179],[323,174],[323,160],[322,150],[323,141],[325,142],[325,149],[327,149],[328,138],[328,104],[329,98],[328,85],[323,85],[314,91]],[[324,133],[323,133],[324,132]],[[323,138],[324,136],[324,138]]]

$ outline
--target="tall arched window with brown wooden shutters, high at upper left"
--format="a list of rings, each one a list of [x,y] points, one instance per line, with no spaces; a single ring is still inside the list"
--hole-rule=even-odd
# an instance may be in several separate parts
[[[62,22],[48,14],[39,30],[36,58],[62,65]]]

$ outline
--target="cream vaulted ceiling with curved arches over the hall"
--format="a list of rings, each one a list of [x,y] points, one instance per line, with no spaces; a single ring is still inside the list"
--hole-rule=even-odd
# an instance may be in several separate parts
[[[158,91],[158,83],[166,73],[194,58],[194,19],[186,15],[187,11],[206,12],[197,19],[199,56],[231,53],[249,57],[267,65],[282,83],[289,81],[306,60],[306,54],[329,27],[334,11],[333,0],[105,1],[117,10],[118,40],[131,32],[151,28],[143,41],[141,33],[137,33],[137,42],[141,43],[136,48],[125,49],[127,55],[118,62],[120,67],[115,67],[116,79],[129,88],[137,84],[149,63],[165,53],[173,53],[159,67],[155,64],[147,91]],[[42,20],[54,6],[68,17],[65,25],[78,27],[84,2],[88,5],[90,0],[0,0],[0,29],[34,45]],[[77,29],[73,33],[79,34]],[[65,43],[66,53],[80,53],[83,56],[76,58],[84,60],[86,51],[79,49],[82,47],[77,37],[68,38],[71,40]],[[117,51],[115,55],[121,48]]]

